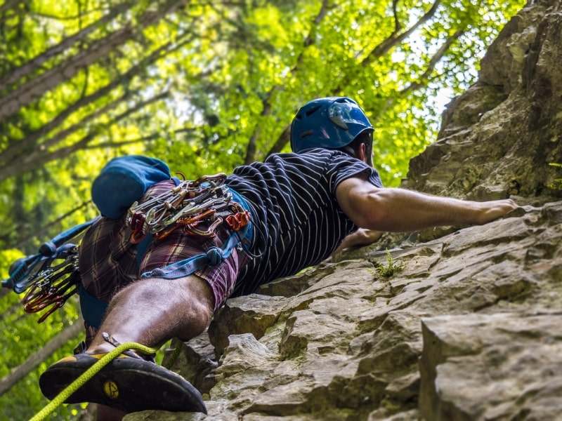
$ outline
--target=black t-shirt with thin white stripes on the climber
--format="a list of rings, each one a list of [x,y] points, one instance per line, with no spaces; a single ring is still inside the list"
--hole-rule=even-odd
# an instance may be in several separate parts
[[[325,260],[358,227],[336,201],[336,187],[355,175],[382,187],[379,173],[351,156],[329,149],[273,154],[240,166],[226,184],[244,196],[254,223],[252,258],[240,272],[233,297],[262,283]]]

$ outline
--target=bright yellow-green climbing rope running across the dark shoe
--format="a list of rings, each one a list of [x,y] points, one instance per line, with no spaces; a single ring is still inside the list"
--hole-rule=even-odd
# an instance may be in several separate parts
[[[119,345],[112,351],[107,352],[98,362],[93,364],[88,370],[84,371],[74,382],[70,383],[60,394],[55,396],[55,398],[48,403],[45,408],[40,410],[34,417],[30,419],[30,421],[42,421],[45,420],[48,415],[50,415],[53,410],[58,408],[64,401],[66,401],[70,395],[76,392],[84,383],[90,380],[93,375],[98,373],[99,370],[107,366],[110,361],[115,359],[119,354],[122,354],[127,349],[135,349],[136,351],[142,352],[143,354],[155,354],[157,349],[146,347],[145,345],[138,344],[136,342],[125,342],[122,345]]]

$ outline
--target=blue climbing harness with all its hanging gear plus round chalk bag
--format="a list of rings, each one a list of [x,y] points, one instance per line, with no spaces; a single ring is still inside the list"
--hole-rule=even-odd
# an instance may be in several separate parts
[[[164,180],[174,180],[176,187],[138,203],[148,187]],[[176,279],[208,265],[219,265],[237,246],[247,250],[253,235],[249,207],[240,194],[224,184],[225,181],[225,174],[181,181],[171,177],[169,167],[159,159],[122,156],[109,161],[96,177],[92,199],[102,216],[116,219],[126,213],[125,223],[131,227],[129,241],[138,247],[137,262],[152,241],[164,238],[175,229],[210,237],[216,235],[219,227],[226,227],[230,236],[221,248],[211,247],[205,253],[141,275],[143,278]],[[2,282],[2,286],[13,288],[16,293],[29,289],[23,301],[26,312],[39,312],[51,306],[39,323],[78,292],[84,320],[90,326],[100,326],[107,302],[93,297],[81,286],[78,247],[67,242],[98,218],[59,234],[41,245],[39,253],[16,260],[10,268],[10,277]],[[207,228],[201,229],[202,225]],[[53,267],[60,258],[64,259],[63,263]]]

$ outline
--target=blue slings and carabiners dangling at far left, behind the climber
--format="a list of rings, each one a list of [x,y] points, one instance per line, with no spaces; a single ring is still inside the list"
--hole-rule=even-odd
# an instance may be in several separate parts
[[[41,244],[39,253],[15,260],[2,281],[2,286],[23,293],[23,308],[27,313],[46,312],[37,323],[42,323],[78,290],[78,247],[68,241],[74,239],[97,218],[77,225],[58,234],[51,241]]]

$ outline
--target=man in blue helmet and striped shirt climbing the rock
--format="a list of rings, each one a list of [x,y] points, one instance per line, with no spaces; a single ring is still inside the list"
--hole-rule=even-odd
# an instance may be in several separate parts
[[[103,319],[84,314],[86,348],[41,375],[45,396],[53,399],[119,342],[158,347],[170,338],[200,335],[229,297],[316,265],[339,246],[373,241],[377,232],[485,224],[517,207],[510,199],[481,203],[384,188],[372,168],[372,133],[349,98],[320,98],[301,107],[292,122],[294,153],[241,166],[224,180],[218,196],[232,195],[237,215],[249,215],[243,234],[209,222],[196,231],[214,229],[214,236],[197,236],[172,224],[146,248],[135,237],[131,211],[96,221],[79,250],[81,303],[83,312],[97,308]],[[155,196],[176,187],[174,180],[157,182],[141,205],[150,208]],[[226,247],[235,237],[237,245]],[[194,256],[206,265],[196,265]],[[122,411],[117,417],[159,408],[205,412],[196,389],[147,360],[119,355],[67,402],[96,402]]]

